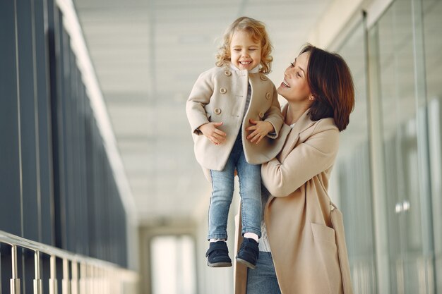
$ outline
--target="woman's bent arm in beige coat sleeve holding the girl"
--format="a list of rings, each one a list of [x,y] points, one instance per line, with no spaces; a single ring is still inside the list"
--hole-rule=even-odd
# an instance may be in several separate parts
[[[297,145],[283,162],[275,158],[261,166],[261,178],[271,195],[287,196],[333,165],[338,153],[339,131],[333,125],[321,123],[323,121],[317,123],[312,135]]]

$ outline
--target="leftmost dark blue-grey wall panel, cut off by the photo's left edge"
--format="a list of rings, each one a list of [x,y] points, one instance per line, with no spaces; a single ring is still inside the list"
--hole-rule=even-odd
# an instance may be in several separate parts
[[[0,2],[0,229],[21,235],[20,130],[16,59],[16,10]]]

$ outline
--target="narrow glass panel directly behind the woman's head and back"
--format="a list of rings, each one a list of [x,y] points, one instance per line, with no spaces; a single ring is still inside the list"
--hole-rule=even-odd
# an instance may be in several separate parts
[[[350,124],[340,135],[335,171],[339,176],[338,195],[345,221],[354,293],[376,293],[365,44],[364,23],[361,22],[338,50],[352,71],[355,87],[354,111]]]

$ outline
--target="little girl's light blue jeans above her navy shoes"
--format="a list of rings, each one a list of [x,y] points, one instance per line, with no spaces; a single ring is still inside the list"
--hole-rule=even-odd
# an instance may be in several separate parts
[[[261,164],[247,163],[239,132],[225,168],[222,171],[210,170],[209,240],[227,240],[227,216],[232,203],[235,169],[241,196],[241,233],[256,233],[261,238]]]

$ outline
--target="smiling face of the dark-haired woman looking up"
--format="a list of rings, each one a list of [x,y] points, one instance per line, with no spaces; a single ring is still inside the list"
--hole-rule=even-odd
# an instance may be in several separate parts
[[[284,80],[277,88],[278,94],[289,102],[309,102],[311,91],[307,83],[309,52],[300,54],[284,72]]]

